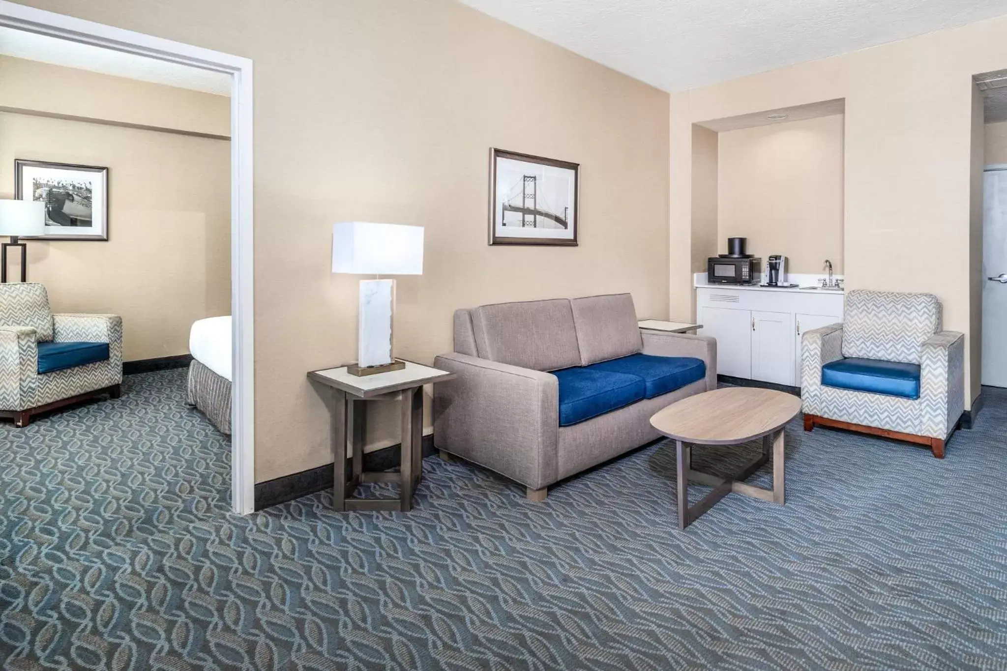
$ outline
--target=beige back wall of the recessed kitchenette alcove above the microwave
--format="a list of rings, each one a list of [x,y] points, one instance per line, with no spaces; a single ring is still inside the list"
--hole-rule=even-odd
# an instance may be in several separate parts
[[[781,254],[788,273],[821,273],[826,259],[842,273],[843,117],[724,131],[719,141],[717,250],[747,237],[763,265]]]

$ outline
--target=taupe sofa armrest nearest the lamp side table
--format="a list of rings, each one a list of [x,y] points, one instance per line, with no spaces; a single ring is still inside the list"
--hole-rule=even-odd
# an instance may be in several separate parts
[[[457,375],[434,385],[438,449],[532,489],[556,482],[555,375],[457,352],[437,356],[434,366]]]

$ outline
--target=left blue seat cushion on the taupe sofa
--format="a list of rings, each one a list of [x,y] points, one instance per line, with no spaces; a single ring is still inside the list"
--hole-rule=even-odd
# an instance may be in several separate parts
[[[569,427],[643,398],[645,385],[636,375],[591,368],[553,372],[560,381],[560,426]]]

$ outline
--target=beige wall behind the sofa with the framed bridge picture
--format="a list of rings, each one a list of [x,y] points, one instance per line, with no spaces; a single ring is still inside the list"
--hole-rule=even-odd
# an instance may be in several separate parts
[[[355,355],[333,221],[426,226],[400,356],[432,361],[455,308],[493,301],[629,291],[668,316],[665,93],[452,0],[28,4],[254,61],[257,481],[331,460],[305,372]],[[580,163],[580,246],[486,245],[490,147]]]

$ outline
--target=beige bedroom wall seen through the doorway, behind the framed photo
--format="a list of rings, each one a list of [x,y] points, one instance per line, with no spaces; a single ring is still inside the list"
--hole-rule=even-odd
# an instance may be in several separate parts
[[[221,100],[0,58],[2,109],[227,132]],[[0,112],[2,198],[14,196],[15,158],[109,168],[108,241],[26,240],[28,279],[54,311],[121,315],[127,361],[185,354],[193,321],[230,314],[230,141]]]

